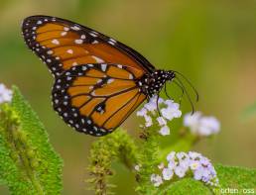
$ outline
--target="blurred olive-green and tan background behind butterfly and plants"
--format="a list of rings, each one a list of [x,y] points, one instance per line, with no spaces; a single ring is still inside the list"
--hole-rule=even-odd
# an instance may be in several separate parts
[[[183,72],[199,91],[197,109],[221,122],[216,138],[192,149],[213,162],[255,167],[256,120],[242,112],[256,100],[256,1],[0,1],[0,82],[18,85],[45,124],[64,158],[63,194],[91,194],[84,179],[95,139],[74,132],[53,112],[53,78],[21,36],[21,21],[37,14],[88,26],[137,49],[158,68]],[[183,111],[189,106],[185,102]],[[134,120],[133,115],[123,127],[136,135]],[[133,175],[114,166],[117,194],[134,194]],[[5,187],[0,194],[8,194]]]

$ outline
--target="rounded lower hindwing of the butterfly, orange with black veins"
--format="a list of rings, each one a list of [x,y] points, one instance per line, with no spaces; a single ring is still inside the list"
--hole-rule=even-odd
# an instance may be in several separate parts
[[[73,66],[54,84],[54,109],[78,132],[109,134],[146,99],[136,83],[138,72],[121,64]]]

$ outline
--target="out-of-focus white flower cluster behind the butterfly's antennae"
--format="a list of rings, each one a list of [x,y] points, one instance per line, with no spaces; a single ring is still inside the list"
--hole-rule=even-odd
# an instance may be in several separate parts
[[[216,118],[202,116],[200,112],[186,114],[184,126],[190,128],[192,134],[198,136],[210,136],[217,134],[220,130],[220,124]]]

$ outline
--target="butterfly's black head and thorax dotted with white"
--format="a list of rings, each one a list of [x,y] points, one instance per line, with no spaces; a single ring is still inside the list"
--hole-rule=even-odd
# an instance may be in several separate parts
[[[149,98],[158,94],[166,81],[172,81],[175,78],[174,71],[156,70],[151,74],[144,74],[139,80],[138,85],[142,92]]]

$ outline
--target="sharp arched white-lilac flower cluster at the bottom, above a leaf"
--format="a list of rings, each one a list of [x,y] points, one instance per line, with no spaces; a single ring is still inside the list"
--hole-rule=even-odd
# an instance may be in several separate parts
[[[151,175],[151,182],[156,187],[164,183],[165,180],[171,180],[175,175],[183,178],[188,172],[192,172],[195,180],[200,180],[212,186],[218,185],[216,171],[210,160],[198,152],[172,151],[167,155],[167,161],[167,166],[163,162],[158,166],[162,171],[161,174],[154,173]]]

